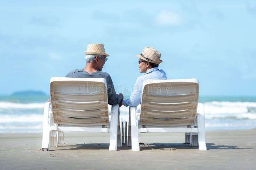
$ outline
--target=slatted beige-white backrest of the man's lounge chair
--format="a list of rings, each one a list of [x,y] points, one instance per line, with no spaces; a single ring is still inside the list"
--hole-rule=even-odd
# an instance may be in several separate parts
[[[52,77],[50,91],[55,124],[109,124],[107,82],[104,78]]]

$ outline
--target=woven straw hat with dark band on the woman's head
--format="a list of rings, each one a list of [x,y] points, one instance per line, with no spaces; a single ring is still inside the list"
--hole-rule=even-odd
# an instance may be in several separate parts
[[[152,47],[145,47],[141,54],[137,54],[137,57],[154,64],[160,64],[163,62],[160,60],[161,53]]]

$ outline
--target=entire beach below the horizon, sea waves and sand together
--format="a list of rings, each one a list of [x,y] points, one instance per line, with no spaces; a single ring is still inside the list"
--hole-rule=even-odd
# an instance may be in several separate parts
[[[40,151],[47,98],[0,96],[0,169],[256,169],[256,97],[200,98],[207,151],[184,133],[140,133],[139,152],[108,151],[110,134],[89,132],[64,132],[64,145]]]

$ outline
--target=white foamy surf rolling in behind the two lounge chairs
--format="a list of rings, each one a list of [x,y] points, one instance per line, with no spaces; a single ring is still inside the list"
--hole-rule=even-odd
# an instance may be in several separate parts
[[[205,126],[214,128],[254,128],[256,124],[255,102],[205,102]],[[138,110],[140,105],[138,106]],[[111,107],[109,105],[109,112]],[[0,102],[0,132],[30,129],[41,131],[44,103]],[[121,118],[128,119],[129,107],[120,107]],[[35,125],[35,126],[34,126]],[[7,132],[6,131],[6,132]]]

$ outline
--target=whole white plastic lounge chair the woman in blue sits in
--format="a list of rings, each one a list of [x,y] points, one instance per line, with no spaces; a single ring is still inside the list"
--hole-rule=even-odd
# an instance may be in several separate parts
[[[205,151],[204,106],[198,95],[197,79],[144,82],[140,113],[137,107],[129,109],[127,146],[140,151],[139,133],[184,132],[185,143]]]

